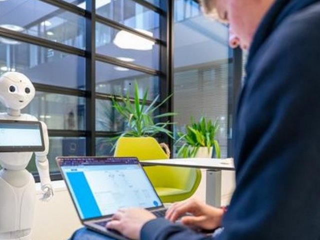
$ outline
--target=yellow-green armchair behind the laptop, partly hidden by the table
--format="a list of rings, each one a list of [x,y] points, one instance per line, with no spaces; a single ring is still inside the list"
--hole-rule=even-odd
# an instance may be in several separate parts
[[[120,137],[114,156],[135,156],[140,161],[168,158],[153,137]],[[194,168],[146,166],[144,170],[163,202],[181,201],[190,197],[201,179],[201,171]]]

